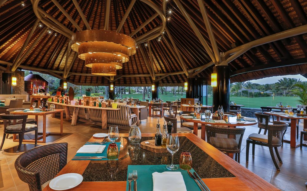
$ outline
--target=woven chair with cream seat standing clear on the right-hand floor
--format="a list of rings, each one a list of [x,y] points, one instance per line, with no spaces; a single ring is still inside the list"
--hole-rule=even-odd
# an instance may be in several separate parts
[[[279,156],[277,147],[282,146],[282,134],[284,130],[288,128],[288,123],[274,121],[273,125],[268,126],[268,135],[262,135],[257,133],[252,133],[248,136],[246,140],[246,162],[248,163],[248,154],[249,154],[249,147],[252,144],[252,155],[255,156],[255,145],[261,145],[269,147],[270,154],[274,165],[278,171],[280,171],[277,162],[275,160],[274,151],[275,149],[277,158],[280,163],[282,163],[282,159]]]

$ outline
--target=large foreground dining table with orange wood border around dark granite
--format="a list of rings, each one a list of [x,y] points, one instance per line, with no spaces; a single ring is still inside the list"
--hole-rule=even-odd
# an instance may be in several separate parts
[[[142,134],[141,141],[152,140],[154,134]],[[192,168],[200,176],[211,191],[279,191],[274,185],[248,170],[243,165],[226,156],[204,140],[191,133],[178,134],[180,147],[174,154],[174,164],[179,164],[180,154],[188,151],[192,155]],[[91,137],[89,141],[103,141],[107,138]],[[140,144],[128,141],[128,134],[119,134],[116,142],[120,142],[118,160],[68,160],[68,163],[56,175],[77,173],[82,175],[82,182],[69,191],[126,191],[128,169],[138,167],[138,190],[144,191],[142,186],[150,186],[153,190],[152,172],[167,171],[165,166],[171,163],[169,152],[151,152],[142,149]],[[107,148],[106,148],[107,149]],[[187,171],[178,168],[186,181],[190,181],[198,189]],[[192,185],[186,185],[187,190]],[[197,190],[196,189],[196,190]],[[194,189],[193,189],[194,190]],[[199,189],[200,190],[200,189]],[[43,191],[53,191],[46,185]]]

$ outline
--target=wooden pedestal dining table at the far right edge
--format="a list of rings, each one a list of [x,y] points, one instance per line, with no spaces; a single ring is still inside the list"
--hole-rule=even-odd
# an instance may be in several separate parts
[[[298,147],[300,146],[300,142],[296,138],[296,125],[299,119],[303,119],[304,121],[304,129],[307,129],[307,116],[297,116],[296,113],[294,115],[285,114],[282,112],[263,112],[264,114],[276,116],[276,120],[280,121],[281,118],[289,119],[290,122],[290,139],[284,137],[285,142],[290,142],[291,147]],[[304,140],[307,140],[307,137],[304,137]]]

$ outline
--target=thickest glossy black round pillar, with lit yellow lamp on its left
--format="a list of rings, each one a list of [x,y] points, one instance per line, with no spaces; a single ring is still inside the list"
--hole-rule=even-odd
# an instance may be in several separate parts
[[[228,65],[214,66],[213,73],[217,73],[217,86],[213,87],[213,112],[219,105],[223,106],[224,112],[229,112],[230,68]]]

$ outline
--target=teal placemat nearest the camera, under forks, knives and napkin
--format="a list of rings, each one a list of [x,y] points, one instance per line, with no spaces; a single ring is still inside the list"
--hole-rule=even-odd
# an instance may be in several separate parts
[[[200,188],[196,184],[196,182],[188,175],[188,172],[179,168],[175,172],[181,172],[183,179],[185,181],[185,187],[188,191],[200,191]],[[128,172],[127,172],[127,183],[126,183],[126,191],[128,191],[128,174],[132,173],[132,171],[138,171],[138,190],[142,191],[151,191],[153,190],[153,176],[154,172],[165,172],[171,171],[166,168],[166,165],[128,165]],[[192,168],[190,172],[194,172]],[[133,182],[131,182],[131,190],[133,190]]]

